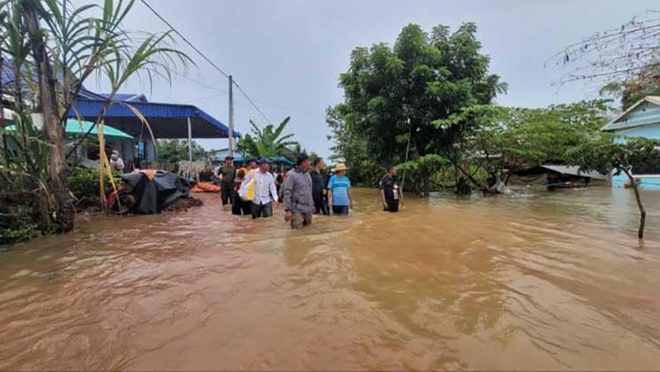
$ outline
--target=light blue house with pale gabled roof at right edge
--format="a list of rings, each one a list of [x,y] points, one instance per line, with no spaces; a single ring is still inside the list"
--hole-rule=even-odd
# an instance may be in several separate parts
[[[617,118],[611,120],[602,130],[616,135],[614,141],[618,143],[622,143],[625,138],[630,137],[660,140],[660,97],[642,98]],[[642,189],[660,190],[660,164],[644,169],[633,168],[632,173],[640,180]],[[621,187],[627,181],[628,178],[625,174],[612,177],[614,186]]]

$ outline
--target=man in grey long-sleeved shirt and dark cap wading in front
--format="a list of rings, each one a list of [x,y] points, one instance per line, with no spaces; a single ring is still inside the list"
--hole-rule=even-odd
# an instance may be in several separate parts
[[[312,197],[312,177],[309,168],[312,163],[305,152],[296,159],[296,167],[284,178],[283,204],[284,221],[291,222],[292,229],[300,229],[312,224],[314,198]]]

